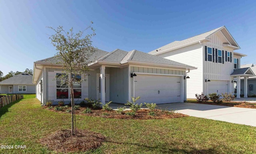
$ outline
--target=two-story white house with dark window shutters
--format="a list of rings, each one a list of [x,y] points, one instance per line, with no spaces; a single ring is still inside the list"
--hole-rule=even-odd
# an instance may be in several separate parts
[[[234,50],[240,49],[225,26],[209,32],[157,48],[149,54],[194,66],[187,72],[186,97],[195,94],[234,92],[234,83],[240,89],[240,77],[254,76],[248,69],[240,69],[240,58],[246,56]],[[234,80],[235,79],[235,80]],[[247,88],[245,88],[247,89]],[[240,90],[237,91],[240,98]]]

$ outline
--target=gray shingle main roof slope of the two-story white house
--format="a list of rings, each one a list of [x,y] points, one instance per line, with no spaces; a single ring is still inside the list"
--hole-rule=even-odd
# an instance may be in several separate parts
[[[177,47],[180,47],[180,46],[183,46],[183,45],[186,45],[186,44],[189,44],[189,43],[192,43],[192,42],[197,42],[197,41],[200,41],[200,40],[203,40],[204,38],[206,38],[207,36],[213,34],[214,32],[220,30],[221,28],[223,28],[224,26],[222,27],[219,27],[219,28],[216,28],[214,30],[211,30],[209,32],[205,32],[203,34],[200,34],[200,35],[197,35],[197,36],[194,36],[194,37],[191,37],[191,38],[187,38],[185,40],[181,40],[181,41],[174,41],[174,42],[171,42],[165,46],[162,46],[160,48],[157,48],[151,52],[148,52],[149,54],[156,54],[156,53],[161,53],[161,52],[164,52],[166,50],[171,50],[171,49],[174,49],[174,48],[177,48]],[[156,51],[158,50],[158,51]]]

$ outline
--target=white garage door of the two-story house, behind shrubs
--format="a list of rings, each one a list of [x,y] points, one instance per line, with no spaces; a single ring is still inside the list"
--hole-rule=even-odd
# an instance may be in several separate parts
[[[225,92],[228,92],[228,81],[211,80],[208,82],[208,94],[217,93],[221,95]]]

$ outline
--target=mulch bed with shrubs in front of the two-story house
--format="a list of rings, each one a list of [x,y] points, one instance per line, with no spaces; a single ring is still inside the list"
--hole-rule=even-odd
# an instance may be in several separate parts
[[[256,104],[248,103],[248,102],[222,102],[220,104],[216,104],[213,102],[193,102],[198,104],[210,104],[210,105],[220,105],[220,106],[231,106],[231,107],[239,107],[239,108],[256,108]]]

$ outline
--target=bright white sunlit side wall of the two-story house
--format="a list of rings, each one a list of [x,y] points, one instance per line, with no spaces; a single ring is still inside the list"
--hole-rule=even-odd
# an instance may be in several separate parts
[[[187,73],[190,78],[186,79],[186,98],[196,98],[195,94],[203,92],[202,44],[193,44],[158,56],[197,68],[196,70],[190,70],[190,72]]]

